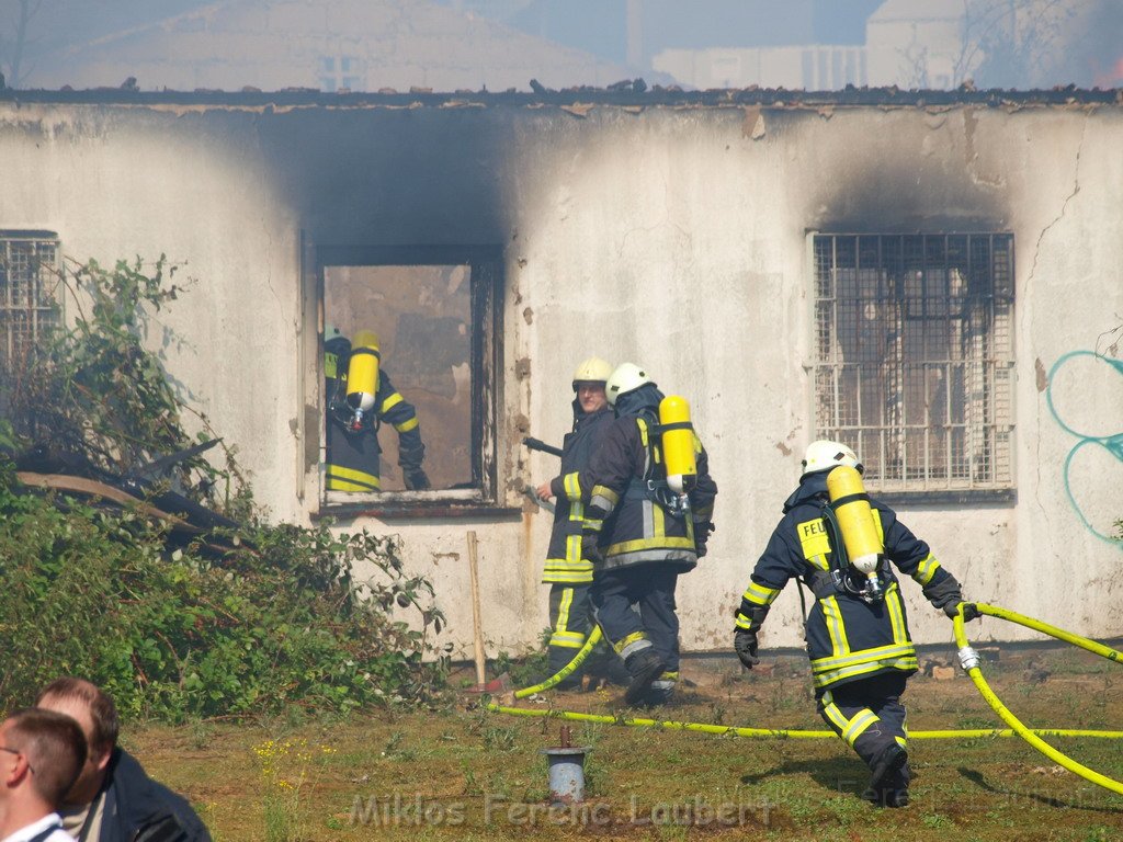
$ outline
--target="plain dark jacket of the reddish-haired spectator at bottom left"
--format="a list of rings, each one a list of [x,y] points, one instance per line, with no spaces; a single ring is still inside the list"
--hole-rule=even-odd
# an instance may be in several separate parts
[[[188,800],[149,778],[122,749],[113,749],[102,789],[101,842],[210,842]]]

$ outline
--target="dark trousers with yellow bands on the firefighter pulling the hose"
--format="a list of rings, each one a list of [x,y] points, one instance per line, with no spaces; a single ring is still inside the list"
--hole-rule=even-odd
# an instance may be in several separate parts
[[[894,744],[907,748],[905,707],[901,704],[905,681],[907,676],[903,674],[883,672],[825,687],[816,694],[819,715],[870,769]],[[886,786],[896,790],[907,789],[907,766],[886,781]]]

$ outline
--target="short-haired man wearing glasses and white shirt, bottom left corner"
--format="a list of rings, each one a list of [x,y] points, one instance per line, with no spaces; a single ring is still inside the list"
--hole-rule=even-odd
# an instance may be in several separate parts
[[[0,842],[74,842],[58,805],[85,762],[85,736],[70,716],[18,711],[0,724]]]

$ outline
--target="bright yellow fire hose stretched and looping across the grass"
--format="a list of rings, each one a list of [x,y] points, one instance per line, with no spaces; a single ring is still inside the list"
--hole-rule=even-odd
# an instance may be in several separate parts
[[[1061,629],[1057,629],[1047,623],[1042,623],[1038,620],[1016,614],[1012,611],[1006,611],[1004,608],[996,607],[994,605],[987,605],[985,603],[976,603],[980,614],[989,614],[990,616],[999,617],[1002,620],[1008,620],[1014,623],[1019,623],[1029,629],[1034,629],[1037,631],[1043,632],[1058,640],[1063,640],[1067,643],[1086,649],[1089,652],[1095,652],[1104,658],[1113,660],[1115,662],[1123,663],[1123,652],[1119,652],[1114,649],[1097,643],[1094,640],[1088,640],[1087,638],[1081,638],[1077,634],[1066,632]],[[944,731],[910,731],[909,739],[911,740],[962,740],[980,736],[1021,736],[1023,740],[1029,742],[1035,749],[1041,751],[1046,757],[1065,767],[1069,771],[1076,772],[1080,777],[1089,780],[1094,784],[1098,784],[1102,787],[1111,789],[1115,793],[1123,794],[1123,784],[1120,784],[1112,778],[1099,775],[1092,769],[1088,769],[1080,763],[1076,762],[1066,754],[1060,753],[1051,745],[1046,743],[1041,738],[1098,738],[1107,740],[1120,740],[1123,739],[1123,731],[1098,731],[1098,730],[1074,730],[1074,729],[1028,729],[1023,725],[1002,704],[997,696],[990,690],[983,678],[983,674],[979,670],[978,656],[970,649],[967,641],[966,633],[964,631],[964,619],[960,613],[955,620],[955,633],[956,633],[956,644],[959,647],[959,657],[967,670],[967,674],[975,681],[975,686],[978,687],[983,697],[990,704],[995,712],[1003,719],[1003,721],[1010,725],[1008,729],[970,729],[970,730],[944,730]],[[536,693],[542,690],[548,690],[555,687],[560,681],[565,680],[567,677],[573,675],[581,665],[588,657],[590,652],[601,640],[600,626],[595,626],[593,632],[588,635],[588,640],[585,641],[585,646],[574,656],[573,660],[566,665],[556,675],[546,679],[545,681],[537,684],[532,687],[524,687],[522,689],[515,690],[515,698],[527,698]],[[965,651],[969,653],[969,659],[965,660]],[[970,660],[973,658],[974,660]],[[553,708],[536,710],[526,707],[512,707],[510,705],[500,705],[494,702],[489,702],[484,705],[487,711],[494,713],[504,713],[513,716],[537,716],[547,719],[559,719],[559,720],[570,720],[575,722],[595,722],[606,725],[626,725],[629,727],[658,727],[668,731],[694,731],[705,734],[716,734],[716,735],[733,735],[750,739],[791,739],[791,740],[821,740],[821,739],[838,739],[838,734],[833,731],[802,731],[794,729],[770,729],[770,727],[742,727],[736,725],[714,725],[701,722],[677,722],[674,720],[649,720],[640,717],[630,716],[612,716],[605,714],[593,714],[593,713],[578,713],[575,711],[556,711]]]

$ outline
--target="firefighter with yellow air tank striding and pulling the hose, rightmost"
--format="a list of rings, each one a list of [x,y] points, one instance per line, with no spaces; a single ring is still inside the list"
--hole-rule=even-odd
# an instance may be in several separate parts
[[[815,596],[805,638],[819,713],[869,767],[864,797],[902,807],[911,772],[901,695],[916,671],[916,650],[894,567],[949,617],[964,598],[929,546],[866,494],[861,473],[843,443],[807,447],[800,485],[741,597],[733,649],[748,669],[759,663],[769,606],[789,579],[805,584]],[[965,616],[974,612],[965,607]]]

